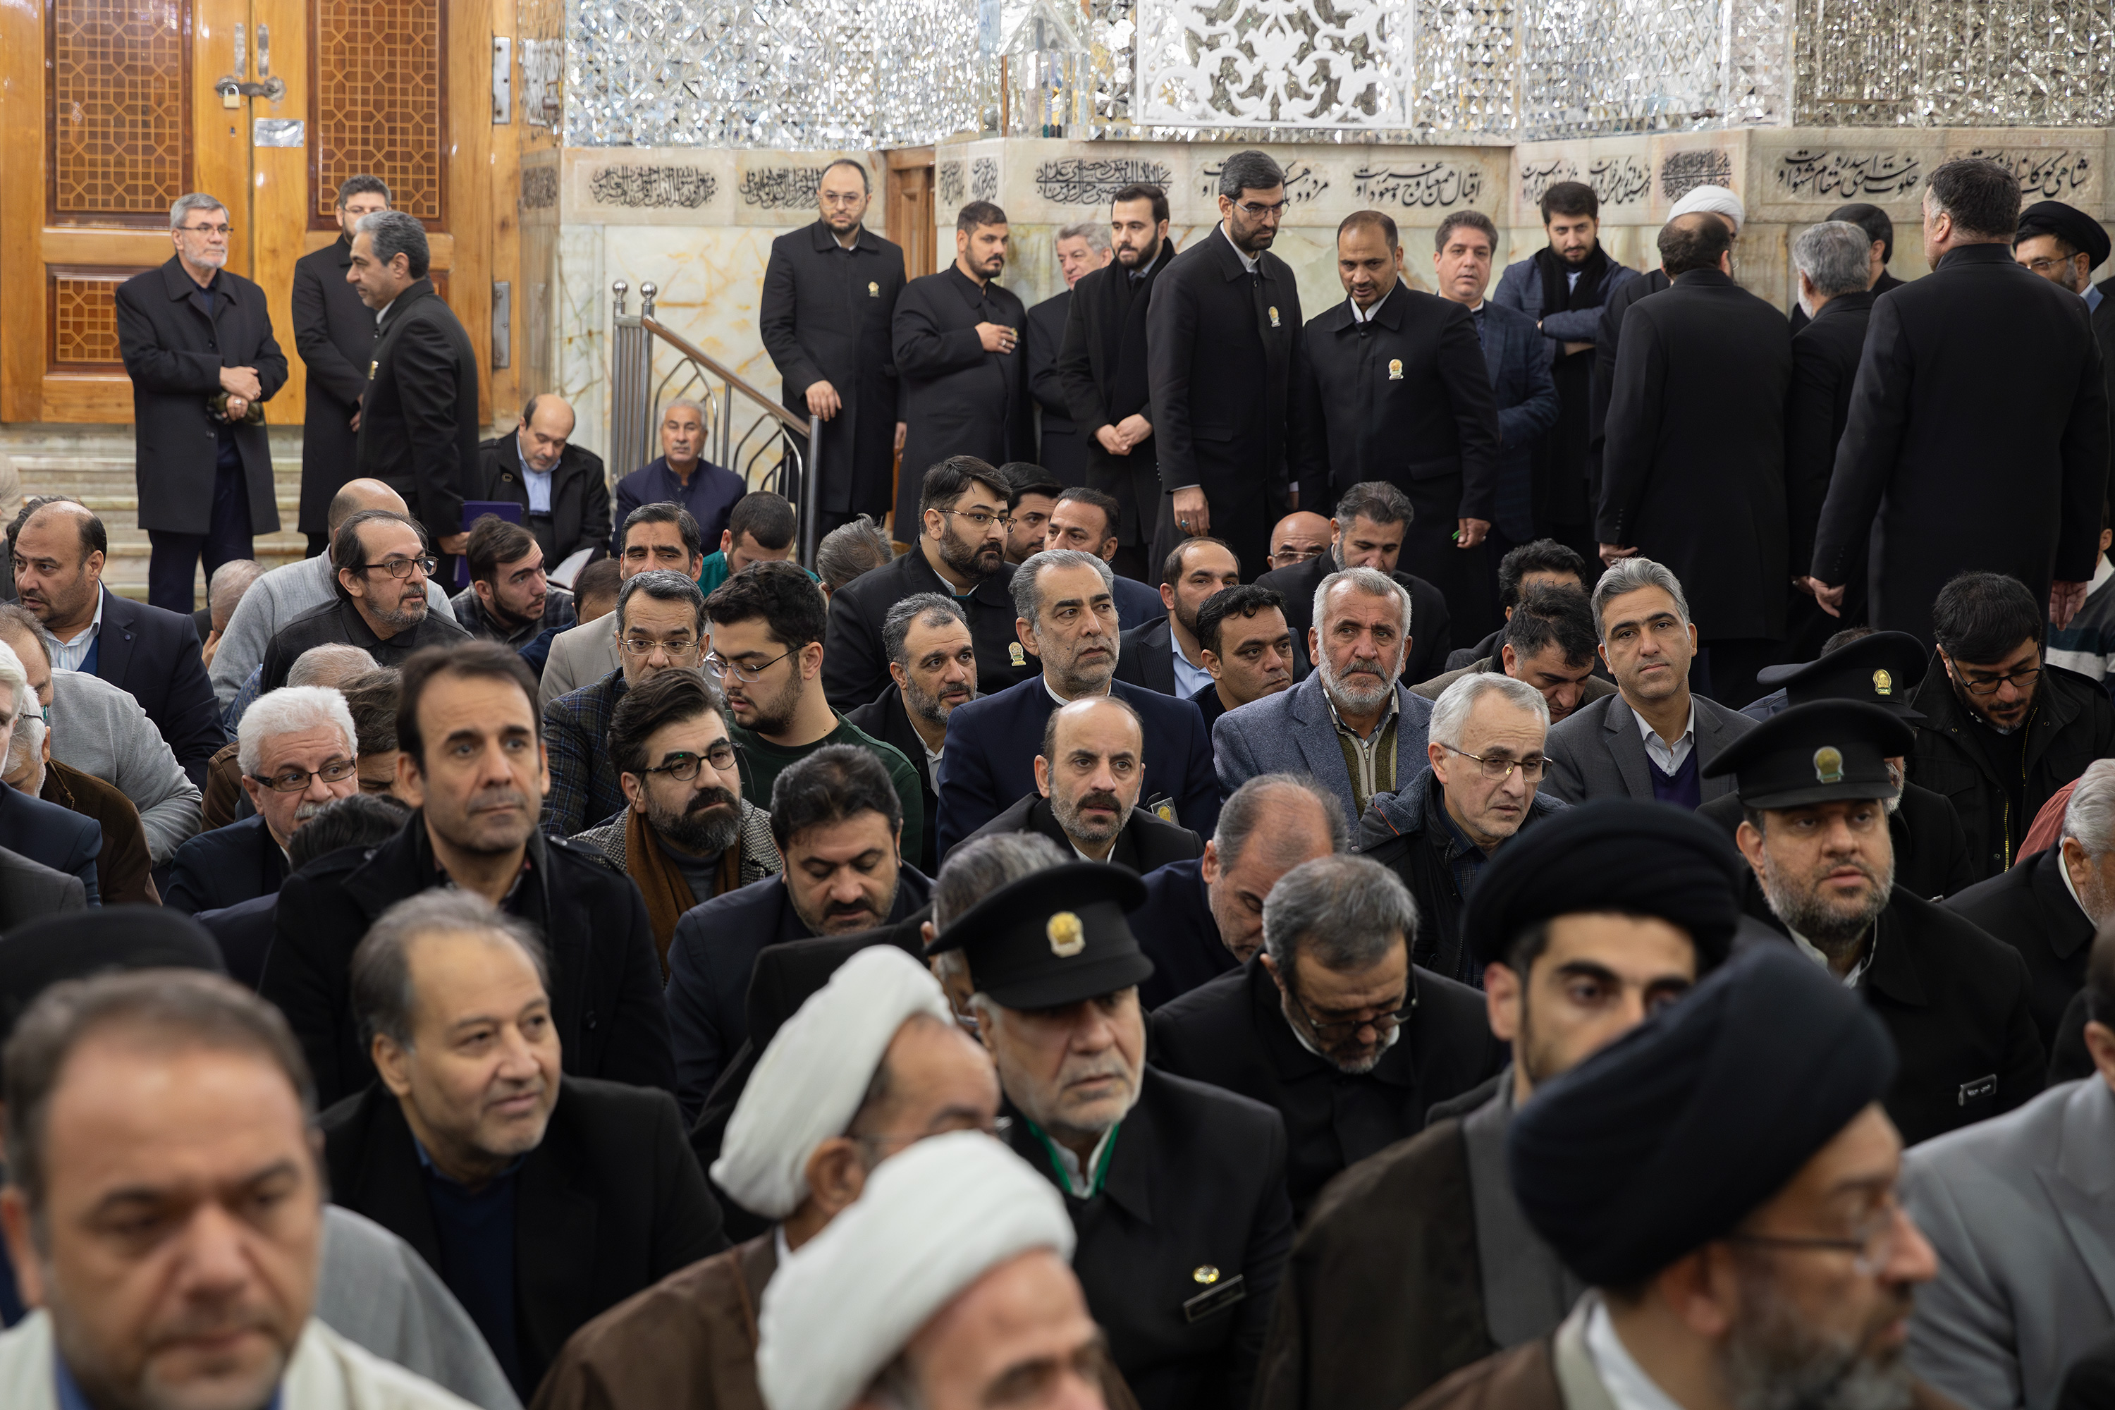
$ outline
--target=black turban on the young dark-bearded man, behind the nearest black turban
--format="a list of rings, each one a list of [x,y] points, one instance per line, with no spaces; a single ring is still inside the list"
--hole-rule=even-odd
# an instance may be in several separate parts
[[[1724,833],[1667,803],[1597,799],[1523,829],[1476,877],[1461,934],[1478,964],[1504,964],[1535,922],[1580,911],[1658,915],[1715,968],[1741,922],[1747,862]]]

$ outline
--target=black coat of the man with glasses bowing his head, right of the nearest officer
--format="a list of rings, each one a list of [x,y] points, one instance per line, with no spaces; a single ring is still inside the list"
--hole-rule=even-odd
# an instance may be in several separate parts
[[[1153,1063],[1242,1093],[1286,1118],[1286,1190],[1307,1218],[1345,1167],[1417,1135],[1426,1108],[1506,1065],[1483,996],[1411,968],[1415,1010],[1373,1072],[1349,1076],[1309,1053],[1286,1023],[1277,983],[1256,956],[1153,1010]]]

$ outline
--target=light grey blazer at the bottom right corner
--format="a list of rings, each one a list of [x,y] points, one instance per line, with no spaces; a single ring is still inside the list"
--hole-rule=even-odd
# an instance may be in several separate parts
[[[1975,1410],[2047,1410],[2115,1330],[2115,1095],[2100,1076],[1908,1152],[1901,1203],[1939,1254],[1910,1370]]]

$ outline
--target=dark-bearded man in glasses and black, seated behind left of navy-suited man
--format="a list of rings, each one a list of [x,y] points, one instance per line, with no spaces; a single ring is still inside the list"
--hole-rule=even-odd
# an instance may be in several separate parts
[[[905,476],[907,478],[907,476]],[[888,609],[920,592],[956,600],[977,643],[977,689],[990,695],[1034,674],[1013,636],[1013,564],[1007,562],[1005,478],[983,461],[956,454],[924,471],[920,528],[895,562],[861,573],[829,598],[823,638],[823,693],[838,710],[857,710],[890,685],[884,621]],[[903,533],[899,520],[897,533]]]

